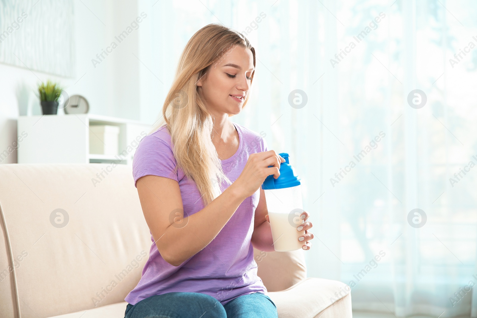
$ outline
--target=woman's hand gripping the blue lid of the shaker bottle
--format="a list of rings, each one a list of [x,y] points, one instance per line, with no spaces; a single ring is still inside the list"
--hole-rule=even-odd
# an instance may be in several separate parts
[[[285,162],[285,159],[274,150],[250,154],[242,173],[230,186],[235,186],[242,197],[247,198],[259,189],[270,174],[273,174],[275,179],[280,176],[282,162]]]

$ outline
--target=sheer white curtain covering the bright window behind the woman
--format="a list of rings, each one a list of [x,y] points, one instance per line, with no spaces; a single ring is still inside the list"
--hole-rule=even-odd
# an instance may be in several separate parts
[[[310,277],[350,284],[355,310],[456,317],[474,306],[477,317],[477,2],[142,6],[154,17],[142,31],[143,71],[163,82],[144,83],[155,95],[149,117],[194,32],[218,22],[247,33],[257,71],[251,102],[232,120],[288,152],[301,175],[315,234]],[[289,103],[297,89],[301,108]]]

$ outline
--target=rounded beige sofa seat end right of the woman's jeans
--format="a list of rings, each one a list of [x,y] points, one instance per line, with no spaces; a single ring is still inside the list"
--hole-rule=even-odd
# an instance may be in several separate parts
[[[352,318],[351,287],[330,279],[309,277],[282,291],[269,292],[279,318],[315,318],[328,311],[332,316]]]

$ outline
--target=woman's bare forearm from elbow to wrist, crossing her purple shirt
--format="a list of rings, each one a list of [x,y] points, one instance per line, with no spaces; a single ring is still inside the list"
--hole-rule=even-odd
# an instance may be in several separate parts
[[[172,224],[161,238],[168,261],[179,266],[206,247],[227,224],[245,198],[230,185],[209,205],[184,217],[182,226]]]

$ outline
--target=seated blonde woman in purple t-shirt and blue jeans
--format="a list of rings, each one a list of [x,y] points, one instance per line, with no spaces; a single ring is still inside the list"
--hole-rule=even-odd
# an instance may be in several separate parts
[[[125,318],[277,317],[253,247],[274,250],[261,185],[285,160],[228,120],[247,103],[254,71],[255,49],[236,31],[209,24],[188,41],[163,121],[133,160],[153,244]]]

